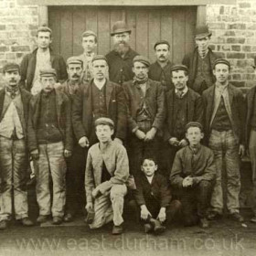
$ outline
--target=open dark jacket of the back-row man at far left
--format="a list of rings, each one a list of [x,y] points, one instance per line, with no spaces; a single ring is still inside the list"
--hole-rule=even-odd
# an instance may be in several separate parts
[[[68,74],[64,59],[50,50],[50,62],[52,68],[57,72],[57,81],[67,80]],[[31,91],[36,66],[37,48],[32,53],[27,54],[20,63],[20,85],[27,91]]]

